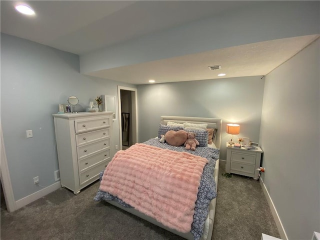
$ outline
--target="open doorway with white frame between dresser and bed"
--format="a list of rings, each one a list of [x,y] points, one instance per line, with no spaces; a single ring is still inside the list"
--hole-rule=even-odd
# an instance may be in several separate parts
[[[118,86],[120,149],[129,148],[137,140],[137,89]]]

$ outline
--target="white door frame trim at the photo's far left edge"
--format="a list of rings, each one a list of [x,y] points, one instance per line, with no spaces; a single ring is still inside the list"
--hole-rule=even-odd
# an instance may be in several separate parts
[[[11,178],[9,174],[8,163],[6,160],[6,154],[5,154],[4,143],[3,143],[2,125],[0,126],[0,134],[1,134],[1,149],[0,149],[1,151],[1,156],[0,156],[1,157],[1,163],[0,163],[1,183],[3,188],[3,193],[4,193],[6,209],[9,212],[11,212],[11,211],[15,211],[17,207],[14,200]]]

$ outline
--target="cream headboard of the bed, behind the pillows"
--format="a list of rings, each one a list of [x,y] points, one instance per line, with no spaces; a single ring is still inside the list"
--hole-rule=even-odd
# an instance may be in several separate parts
[[[222,120],[219,118],[207,117],[192,117],[192,116],[161,116],[160,123],[166,125],[168,121],[177,123],[190,122],[190,123],[207,123],[207,128],[216,128],[215,146],[220,148],[221,144],[221,127]]]

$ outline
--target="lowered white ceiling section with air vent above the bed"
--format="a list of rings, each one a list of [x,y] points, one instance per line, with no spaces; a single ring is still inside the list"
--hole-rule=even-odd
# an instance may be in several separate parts
[[[178,57],[139,63],[89,73],[107,79],[121,79],[145,84],[147,79],[159,82],[204,80],[239,76],[263,76],[295,55],[318,35],[290,37],[240,46],[221,48]],[[208,66],[221,64],[221,69]],[[225,76],[218,76],[226,73]]]

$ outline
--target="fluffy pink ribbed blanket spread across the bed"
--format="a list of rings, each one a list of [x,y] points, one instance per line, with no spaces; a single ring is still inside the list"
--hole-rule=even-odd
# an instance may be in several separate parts
[[[103,172],[100,190],[165,226],[188,232],[207,162],[187,152],[136,143],[116,152]]]

